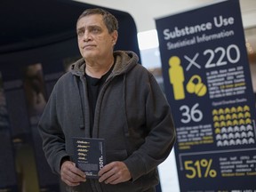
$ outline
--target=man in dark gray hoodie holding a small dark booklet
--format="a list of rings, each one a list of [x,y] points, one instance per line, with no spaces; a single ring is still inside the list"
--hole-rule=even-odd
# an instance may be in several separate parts
[[[61,76],[39,122],[44,153],[68,191],[155,191],[157,165],[175,141],[171,110],[134,52],[114,52],[116,18],[85,10],[76,23],[83,56]],[[72,162],[72,138],[100,138],[107,164],[87,179]]]

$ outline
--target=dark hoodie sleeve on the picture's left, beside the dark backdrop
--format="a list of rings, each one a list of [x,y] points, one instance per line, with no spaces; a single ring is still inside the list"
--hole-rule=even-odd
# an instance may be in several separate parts
[[[44,108],[38,129],[43,139],[43,149],[46,160],[52,172],[59,174],[60,161],[63,157],[68,156],[68,154],[65,151],[64,134],[57,118],[56,89],[53,89],[50,99]]]

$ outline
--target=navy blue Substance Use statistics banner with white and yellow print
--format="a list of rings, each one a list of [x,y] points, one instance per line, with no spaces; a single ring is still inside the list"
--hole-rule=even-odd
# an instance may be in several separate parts
[[[255,191],[255,98],[239,1],[157,19],[156,29],[180,191]]]

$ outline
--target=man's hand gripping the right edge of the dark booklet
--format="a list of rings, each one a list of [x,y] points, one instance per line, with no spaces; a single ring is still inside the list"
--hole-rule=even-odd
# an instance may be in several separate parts
[[[105,165],[100,170],[99,176],[99,181],[104,181],[106,184],[117,184],[132,179],[131,173],[123,162],[112,162]]]

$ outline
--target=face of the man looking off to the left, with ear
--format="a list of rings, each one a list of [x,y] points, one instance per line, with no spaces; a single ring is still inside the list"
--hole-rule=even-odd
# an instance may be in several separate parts
[[[109,34],[100,14],[78,20],[76,32],[79,50],[85,60],[97,60],[112,54],[117,31]]]

